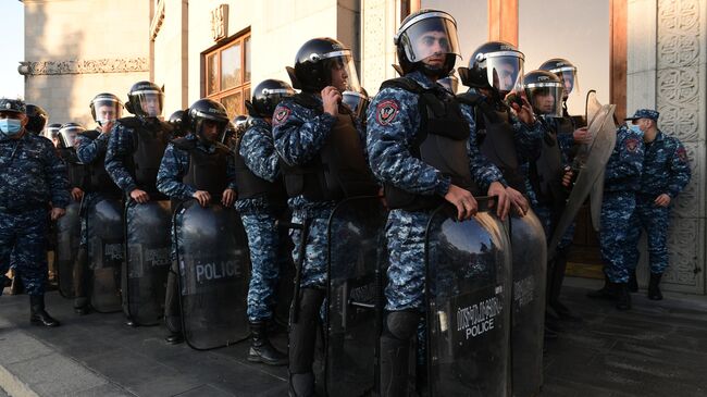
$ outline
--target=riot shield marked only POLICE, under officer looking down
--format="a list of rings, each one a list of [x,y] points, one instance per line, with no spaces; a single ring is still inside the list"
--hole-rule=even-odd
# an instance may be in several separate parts
[[[174,211],[184,339],[197,350],[248,337],[248,239],[240,216],[219,203],[188,200]]]

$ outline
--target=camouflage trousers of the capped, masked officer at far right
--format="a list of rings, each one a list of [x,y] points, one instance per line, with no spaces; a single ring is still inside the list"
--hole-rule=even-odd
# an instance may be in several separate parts
[[[648,263],[650,273],[662,274],[668,268],[668,225],[670,223],[670,207],[658,207],[653,203],[656,198],[653,196],[636,196],[636,211],[633,227],[638,231],[635,234],[637,245],[641,233],[646,231],[648,237]],[[635,266],[636,262],[633,263]]]

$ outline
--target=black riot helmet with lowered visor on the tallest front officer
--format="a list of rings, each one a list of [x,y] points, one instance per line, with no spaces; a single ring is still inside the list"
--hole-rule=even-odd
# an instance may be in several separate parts
[[[437,78],[455,67],[459,52],[457,21],[438,10],[420,10],[406,17],[395,34],[398,61],[404,73],[422,70]],[[423,61],[430,59],[427,63]],[[436,61],[436,63],[431,63]]]

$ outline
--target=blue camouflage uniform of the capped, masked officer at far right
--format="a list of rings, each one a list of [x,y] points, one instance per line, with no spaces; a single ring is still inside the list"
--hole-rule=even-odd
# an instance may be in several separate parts
[[[668,266],[670,206],[659,207],[654,201],[662,194],[670,196],[671,202],[678,197],[690,183],[690,162],[680,140],[660,131],[652,142],[644,142],[644,145],[643,173],[636,195],[636,216],[634,216],[636,224],[633,227],[638,231],[643,228],[648,234],[650,273],[662,274]],[[637,244],[638,238],[640,235],[636,235],[636,240],[632,245]]]

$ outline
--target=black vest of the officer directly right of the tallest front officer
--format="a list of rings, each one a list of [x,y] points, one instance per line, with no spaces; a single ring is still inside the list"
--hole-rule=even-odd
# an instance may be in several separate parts
[[[504,103],[494,106],[474,92],[460,94],[457,98],[474,109],[476,140],[482,154],[500,170],[510,187],[524,194],[525,184],[519,168],[510,109]]]

